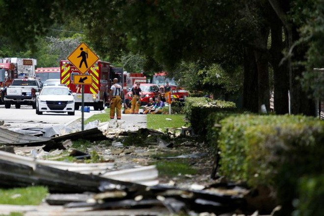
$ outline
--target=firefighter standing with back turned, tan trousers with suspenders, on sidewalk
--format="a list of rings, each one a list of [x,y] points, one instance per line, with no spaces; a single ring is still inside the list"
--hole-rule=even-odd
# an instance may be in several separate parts
[[[113,79],[113,85],[109,91],[109,102],[110,102],[110,119],[115,117],[115,108],[117,119],[121,119],[121,90],[122,87],[117,83],[118,79]]]

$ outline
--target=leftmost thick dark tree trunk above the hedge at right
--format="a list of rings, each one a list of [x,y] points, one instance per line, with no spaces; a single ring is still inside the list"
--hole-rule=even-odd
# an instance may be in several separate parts
[[[251,47],[244,48],[243,108],[258,112],[258,72]]]

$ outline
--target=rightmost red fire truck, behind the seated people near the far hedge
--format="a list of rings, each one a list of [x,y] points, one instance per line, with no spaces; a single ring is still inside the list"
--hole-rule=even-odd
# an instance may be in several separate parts
[[[162,100],[165,101],[164,85],[166,82],[171,86],[171,99],[176,101],[185,101],[185,98],[189,96],[189,92],[182,87],[178,86],[174,78],[167,78],[167,72],[162,71],[153,75],[152,83],[159,85],[162,92]]]

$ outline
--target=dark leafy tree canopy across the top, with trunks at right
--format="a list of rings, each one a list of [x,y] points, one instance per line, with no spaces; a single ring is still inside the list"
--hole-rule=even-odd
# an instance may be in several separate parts
[[[323,67],[323,8],[322,0],[0,0],[0,50],[10,54],[10,41],[32,53],[50,41],[54,61],[88,40],[104,60],[167,69],[191,87],[196,75],[203,89],[242,89],[231,78],[243,76],[244,107],[252,111],[269,108],[270,67],[276,112],[288,112],[289,90],[292,113],[313,114],[310,90],[324,86],[311,84],[313,68]],[[62,26],[75,33],[49,35]]]

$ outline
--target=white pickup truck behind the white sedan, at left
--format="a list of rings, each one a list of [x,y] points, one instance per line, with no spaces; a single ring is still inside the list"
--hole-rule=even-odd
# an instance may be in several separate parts
[[[37,79],[14,79],[5,89],[4,107],[10,108],[11,105],[15,105],[19,109],[21,105],[31,105],[35,109],[35,93],[42,87],[42,82]]]

